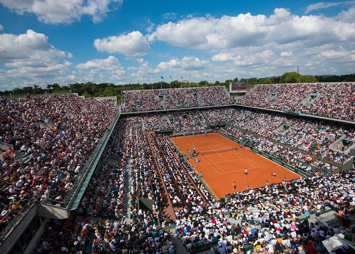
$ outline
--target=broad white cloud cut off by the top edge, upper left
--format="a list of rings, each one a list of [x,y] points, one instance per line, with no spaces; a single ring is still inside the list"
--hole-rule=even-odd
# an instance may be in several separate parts
[[[72,23],[89,15],[100,22],[107,13],[123,0],[0,0],[0,3],[17,14],[31,13],[45,23]]]

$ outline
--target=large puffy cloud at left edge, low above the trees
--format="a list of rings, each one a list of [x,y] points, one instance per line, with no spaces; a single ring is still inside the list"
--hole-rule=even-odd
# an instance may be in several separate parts
[[[27,30],[26,34],[0,34],[0,84],[6,80],[19,83],[37,82],[64,74],[72,63],[61,58],[72,54],[61,51],[48,43],[44,34]],[[20,81],[21,80],[21,81]]]

